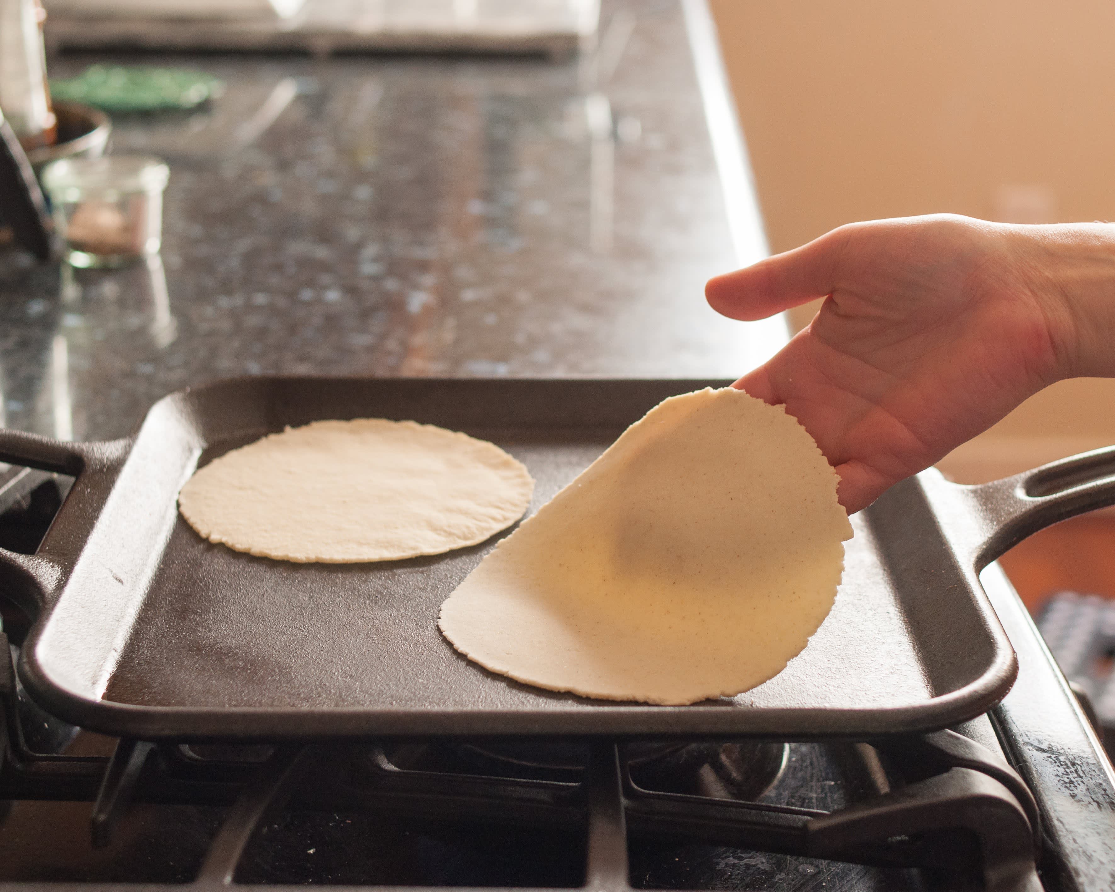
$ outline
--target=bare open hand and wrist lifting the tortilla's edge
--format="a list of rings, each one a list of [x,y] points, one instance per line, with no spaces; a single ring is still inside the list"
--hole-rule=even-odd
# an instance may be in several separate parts
[[[1115,374],[1115,232],[934,215],[841,226],[717,277],[734,319],[815,298],[813,322],[736,382],[785,404],[849,513],[1060,378]]]

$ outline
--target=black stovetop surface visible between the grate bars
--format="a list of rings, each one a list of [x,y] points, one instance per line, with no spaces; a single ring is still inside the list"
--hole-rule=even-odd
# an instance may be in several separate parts
[[[779,758],[776,778],[770,778],[767,766],[764,777],[770,786],[753,795],[755,802],[832,811],[876,795],[880,782],[885,783],[869,747],[815,743],[767,746],[779,756],[785,750],[785,765]],[[424,747],[410,745],[411,752],[401,755],[410,764],[425,760],[425,768],[435,767],[435,763],[439,763],[436,767],[465,772],[492,767],[467,760],[462,764],[459,756],[457,764],[449,764],[454,747],[433,747],[449,753],[448,757],[427,753],[416,759],[413,750]],[[83,733],[67,752],[108,755],[114,748],[115,741]],[[339,760],[359,760],[360,749],[346,747],[320,760],[333,766]],[[725,794],[723,788],[706,787],[705,792]],[[190,883],[201,871],[230,807],[136,802],[113,827],[109,844],[98,847],[90,833],[91,803],[8,802],[0,807],[0,882]],[[260,824],[240,860],[235,882],[579,888],[585,881],[586,854],[584,815],[556,826],[522,826],[493,820],[438,820],[396,809],[377,813],[374,808],[295,804]],[[681,838],[632,837],[628,856],[630,884],[636,889],[934,888],[918,870]]]

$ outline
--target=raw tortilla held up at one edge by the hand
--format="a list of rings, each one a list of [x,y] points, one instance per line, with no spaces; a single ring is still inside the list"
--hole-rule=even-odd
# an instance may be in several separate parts
[[[780,406],[671,397],[501,542],[442,605],[462,653],[608,700],[760,685],[828,614],[852,536],[836,473]]]

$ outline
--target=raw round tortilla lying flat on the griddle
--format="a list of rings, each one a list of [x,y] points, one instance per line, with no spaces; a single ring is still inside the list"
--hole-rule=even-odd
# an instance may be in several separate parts
[[[287,428],[200,468],[178,508],[210,542],[284,561],[394,561],[475,545],[534,481],[498,446],[415,421]]]

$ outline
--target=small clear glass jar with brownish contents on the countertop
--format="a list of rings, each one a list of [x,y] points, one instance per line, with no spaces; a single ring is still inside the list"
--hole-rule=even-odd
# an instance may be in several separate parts
[[[64,158],[42,169],[75,266],[122,266],[158,252],[169,168],[149,155]]]

